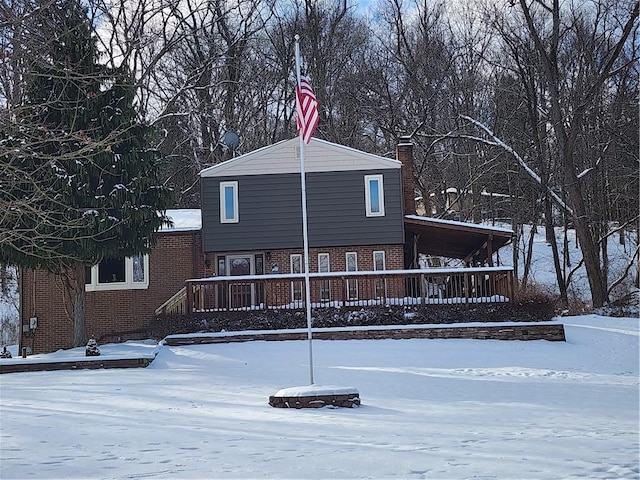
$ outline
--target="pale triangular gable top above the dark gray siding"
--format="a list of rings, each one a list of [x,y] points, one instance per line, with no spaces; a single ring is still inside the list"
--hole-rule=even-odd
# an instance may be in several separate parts
[[[402,164],[354,148],[313,138],[305,147],[305,172],[399,169]],[[300,173],[300,139],[295,137],[205,168],[200,177]]]

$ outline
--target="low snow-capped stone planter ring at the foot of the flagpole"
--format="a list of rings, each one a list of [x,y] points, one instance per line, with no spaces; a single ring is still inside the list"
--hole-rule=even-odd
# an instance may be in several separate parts
[[[354,408],[360,406],[360,394],[352,387],[290,387],[271,395],[269,405],[275,408]]]

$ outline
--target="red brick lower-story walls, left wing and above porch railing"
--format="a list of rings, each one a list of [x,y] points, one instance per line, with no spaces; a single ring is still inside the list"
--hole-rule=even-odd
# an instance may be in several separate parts
[[[178,292],[190,278],[216,274],[217,254],[203,254],[200,231],[158,233],[158,243],[149,254],[149,287],[136,290],[88,291],[85,294],[87,334],[104,341],[146,338],[143,330],[155,315],[155,310]],[[385,252],[387,270],[404,268],[402,245],[367,245],[359,247],[312,248],[311,272],[318,271],[318,253],[328,253],[330,270],[346,270],[346,253],[356,252],[358,270],[373,270],[373,252]],[[258,252],[256,252],[258,253]],[[266,252],[263,252],[266,256]],[[280,273],[290,272],[290,255],[302,254],[302,249],[269,252],[265,273],[277,263]],[[21,324],[37,317],[33,333],[23,333],[21,347],[31,353],[52,352],[73,346],[73,323],[64,302],[60,277],[40,270],[25,270],[21,278]]]

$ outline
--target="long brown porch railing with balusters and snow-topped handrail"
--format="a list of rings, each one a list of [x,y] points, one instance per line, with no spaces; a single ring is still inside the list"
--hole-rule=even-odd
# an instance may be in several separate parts
[[[304,281],[303,274],[187,280],[162,313],[303,309]],[[514,296],[510,267],[310,273],[309,282],[314,309],[505,303]]]

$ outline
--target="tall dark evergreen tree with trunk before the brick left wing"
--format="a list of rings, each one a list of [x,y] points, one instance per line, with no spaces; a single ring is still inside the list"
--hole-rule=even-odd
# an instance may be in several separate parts
[[[0,215],[0,263],[62,276],[80,346],[85,267],[148,252],[171,193],[159,184],[135,87],[125,67],[99,63],[86,9],[41,3],[23,33],[32,61],[24,99],[0,133],[0,207],[10,212]]]

